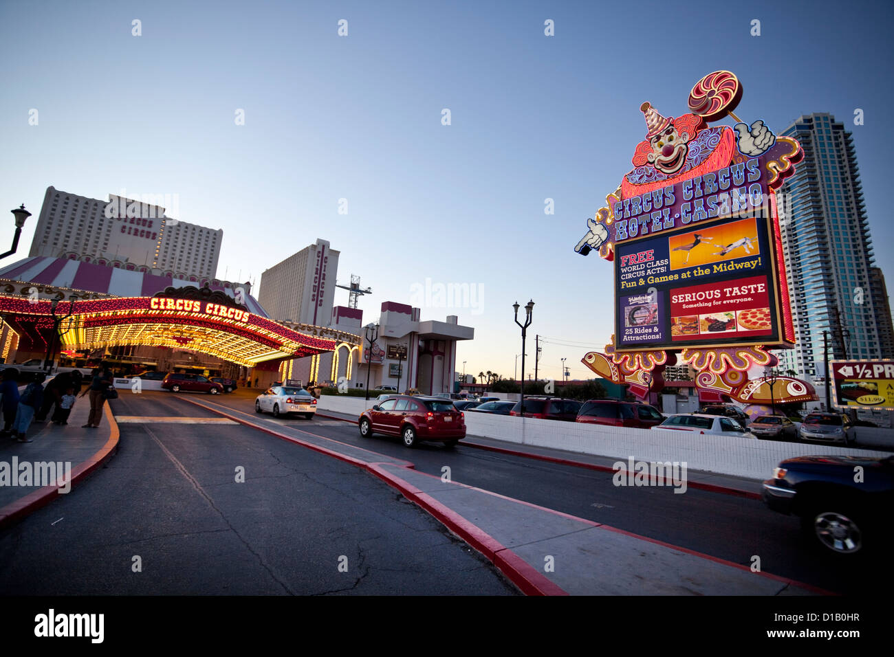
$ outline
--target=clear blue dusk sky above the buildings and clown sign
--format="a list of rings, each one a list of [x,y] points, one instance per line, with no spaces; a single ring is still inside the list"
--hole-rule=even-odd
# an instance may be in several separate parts
[[[541,377],[559,378],[567,358],[570,378],[589,378],[580,359],[613,332],[613,265],[574,247],[632,168],[639,106],[684,114],[708,72],[738,75],[748,123],[780,132],[813,112],[845,123],[876,262],[894,275],[881,198],[892,18],[890,4],[859,0],[0,0],[0,205],[34,215],[24,257],[50,185],[176,195],[169,216],[223,229],[218,277],[256,284],[329,240],[338,282],[358,274],[373,290],[364,323],[389,300],[415,302],[423,320],[457,315],[475,328],[457,357],[471,374],[520,374],[512,304],[533,299],[526,375],[539,334]],[[12,236],[10,216],[0,246]],[[418,293],[426,282],[474,294],[443,307]]]

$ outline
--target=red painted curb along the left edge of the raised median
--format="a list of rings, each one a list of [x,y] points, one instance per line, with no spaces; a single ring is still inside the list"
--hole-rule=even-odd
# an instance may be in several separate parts
[[[217,413],[218,415],[221,415],[223,417],[229,417],[233,421],[239,422],[242,425],[250,426],[266,434],[273,435],[277,438],[281,438],[283,440],[293,442],[304,447],[309,447],[310,449],[318,451],[321,454],[332,456],[335,459],[343,460],[347,463],[350,463],[351,465],[366,470],[369,474],[384,481],[385,484],[389,484],[390,486],[392,486],[392,488],[400,491],[401,494],[409,501],[412,501],[423,510],[426,510],[432,517],[434,517],[434,519],[440,522],[443,526],[446,526],[448,529],[450,529],[451,532],[453,532],[455,535],[460,536],[463,541],[472,546],[472,548],[477,550],[477,552],[481,552],[483,555],[485,555],[487,560],[491,561],[493,565],[500,569],[500,571],[506,577],[508,577],[513,584],[517,585],[522,593],[526,595],[568,595],[568,593],[564,591],[559,585],[552,583],[552,581],[548,577],[541,575],[539,572],[536,571],[536,569],[530,566],[527,561],[521,559],[521,557],[519,557],[519,555],[517,555],[515,552],[512,552],[505,545],[493,538],[493,536],[487,534],[481,527],[469,522],[466,518],[460,516],[460,514],[456,511],[443,505],[441,502],[435,500],[430,495],[422,493],[415,486],[409,484],[409,482],[407,482],[406,480],[401,479],[401,477],[399,476],[392,475],[390,472],[385,471],[382,467],[382,465],[392,465],[393,467],[413,467],[413,464],[409,463],[409,461],[406,461],[409,466],[401,466],[400,464],[396,463],[366,463],[364,461],[339,454],[336,451],[327,450],[325,449],[325,447],[320,447],[319,445],[314,445],[309,442],[301,441],[297,438],[292,438],[291,436],[285,434],[280,434],[273,429],[267,429],[264,426],[252,424],[247,419],[231,416],[223,410],[208,407],[201,402],[189,399],[187,401],[203,409],[207,409],[214,413]],[[350,420],[348,421],[350,422]],[[306,434],[316,436],[316,434],[310,434],[310,432],[306,432],[303,429],[296,429],[296,431],[302,431]],[[317,437],[324,438],[325,440],[333,440],[332,438],[329,438],[327,436]],[[352,449],[364,449],[357,448],[355,445],[349,446]]]

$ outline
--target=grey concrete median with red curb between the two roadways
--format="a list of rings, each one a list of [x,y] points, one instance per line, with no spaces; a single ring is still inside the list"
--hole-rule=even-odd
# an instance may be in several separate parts
[[[526,594],[828,594],[787,577],[753,572],[744,565],[616,527],[467,484],[445,482],[441,477],[418,472],[411,463],[401,463],[401,459],[314,434],[312,426],[307,430],[283,427],[266,417],[237,409],[224,410],[217,404],[198,400],[189,401],[241,424],[255,426],[267,434],[366,469],[484,554]],[[327,414],[325,417],[335,416]],[[409,451],[408,456],[411,458]],[[746,485],[747,482],[739,484]]]

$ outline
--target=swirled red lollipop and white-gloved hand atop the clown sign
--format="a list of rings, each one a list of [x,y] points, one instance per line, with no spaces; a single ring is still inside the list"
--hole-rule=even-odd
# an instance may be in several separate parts
[[[734,128],[739,153],[751,157],[763,155],[776,143],[776,135],[760,119],[749,128],[733,114],[741,99],[742,85],[735,73],[715,71],[696,82],[689,93],[689,109],[705,121],[720,121],[729,114],[736,121]]]

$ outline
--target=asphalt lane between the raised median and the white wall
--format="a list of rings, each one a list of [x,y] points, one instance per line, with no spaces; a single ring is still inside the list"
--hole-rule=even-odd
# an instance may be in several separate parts
[[[399,438],[378,434],[361,438],[357,426],[347,422],[336,424],[322,417],[308,421],[257,416],[256,395],[257,391],[240,390],[217,398],[197,395],[192,399],[237,409],[252,420],[310,431],[407,459],[419,471],[434,476],[441,476],[442,467],[449,466],[454,481],[748,567],[757,556],[765,572],[835,593],[875,590],[877,563],[841,560],[815,550],[801,534],[797,518],[768,510],[761,501],[694,488],[679,494],[669,487],[619,487],[612,484],[608,472],[498,454],[461,442],[454,450],[437,443],[422,443],[409,450]],[[557,455],[568,457],[564,452]]]

